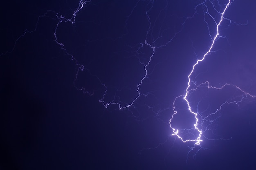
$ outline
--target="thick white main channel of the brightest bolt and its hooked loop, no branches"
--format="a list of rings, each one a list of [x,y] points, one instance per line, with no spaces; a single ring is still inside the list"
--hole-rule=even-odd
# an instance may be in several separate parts
[[[190,113],[192,113],[192,114],[195,115],[195,120],[196,120],[196,121],[195,121],[194,127],[195,127],[195,129],[199,132],[199,135],[198,135],[197,139],[194,139],[194,140],[193,140],[193,139],[184,140],[184,139],[182,139],[182,137],[180,137],[180,135],[178,135],[179,130],[178,130],[178,129],[175,130],[175,128],[172,128],[172,126],[171,126],[171,120],[173,119],[173,116],[177,113],[177,111],[175,111],[174,103],[175,103],[175,101],[176,101],[176,99],[177,99],[178,97],[181,97],[181,96],[183,96],[183,95],[180,95],[180,96],[176,97],[175,101],[173,102],[174,114],[172,115],[172,117],[171,117],[171,119],[170,119],[170,122],[169,122],[169,123],[170,123],[170,127],[173,129],[173,134],[172,134],[172,135],[176,135],[176,136],[177,136],[179,139],[181,139],[183,142],[195,141],[195,144],[196,144],[196,145],[200,145],[200,141],[202,141],[202,139],[201,139],[202,130],[200,130],[200,129],[198,128],[198,113],[195,113],[195,112],[193,112],[193,111],[191,110],[191,106],[190,106],[189,101],[188,101],[188,99],[187,99],[187,96],[188,96],[188,94],[189,94],[190,83],[191,83],[190,76],[191,76],[192,73],[194,72],[195,66],[198,65],[199,62],[202,62],[202,61],[205,59],[205,57],[206,57],[209,53],[211,53],[211,49],[213,48],[213,45],[214,45],[216,39],[219,37],[219,26],[220,26],[220,24],[221,24],[221,22],[222,22],[222,20],[223,20],[223,18],[224,18],[223,15],[225,14],[225,11],[227,10],[227,8],[229,7],[229,5],[230,5],[231,3],[232,3],[231,0],[229,0],[229,2],[227,3],[225,9],[224,9],[223,12],[221,13],[220,22],[219,22],[219,23],[217,24],[217,26],[216,26],[216,31],[217,31],[217,33],[216,33],[215,37],[213,38],[213,41],[212,41],[212,43],[211,43],[211,47],[209,48],[209,50],[207,51],[207,53],[204,54],[204,56],[203,56],[203,58],[202,58],[201,60],[197,60],[197,61],[196,61],[196,63],[193,65],[192,71],[190,72],[190,74],[189,74],[189,76],[188,76],[189,82],[188,82],[188,86],[187,86],[187,88],[186,88],[186,94],[184,95],[183,99],[186,101]]]

